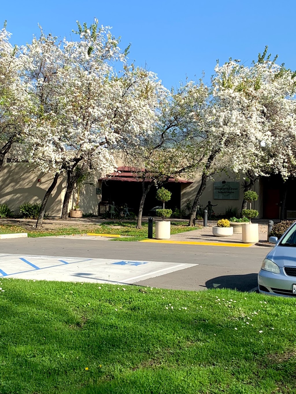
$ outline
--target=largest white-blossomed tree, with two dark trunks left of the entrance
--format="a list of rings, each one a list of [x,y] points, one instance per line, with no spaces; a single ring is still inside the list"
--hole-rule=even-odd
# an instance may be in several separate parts
[[[90,28],[78,23],[78,28],[78,41],[61,43],[41,31],[27,50],[31,96],[38,109],[31,125],[30,161],[55,172],[45,200],[59,174],[66,173],[63,219],[78,178],[90,171],[99,177],[112,173],[113,151],[135,141],[142,130],[149,132],[155,91],[157,97],[162,91],[154,74],[127,65],[126,51],[120,51],[107,28],[99,28],[97,21]],[[116,62],[122,66],[119,75]],[[43,214],[41,210],[38,226]]]

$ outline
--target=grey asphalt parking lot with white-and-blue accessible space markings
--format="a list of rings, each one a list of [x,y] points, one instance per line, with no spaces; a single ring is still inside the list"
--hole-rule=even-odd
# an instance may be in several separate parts
[[[196,291],[249,291],[257,286],[257,273],[269,250],[95,238],[19,238],[0,241],[0,275]]]

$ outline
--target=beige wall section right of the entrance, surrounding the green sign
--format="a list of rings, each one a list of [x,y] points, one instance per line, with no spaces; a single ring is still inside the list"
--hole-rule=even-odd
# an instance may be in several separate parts
[[[241,188],[241,184],[244,181],[244,179],[241,177],[240,179],[237,179],[235,175],[232,174],[225,174],[222,173],[221,175],[217,174],[214,177],[214,181],[208,180],[206,189],[202,193],[202,196],[200,198],[200,204],[203,206],[203,208],[208,204],[208,201],[211,201],[213,205],[216,205],[213,207],[213,210],[216,215],[223,215],[225,213],[226,208],[229,206],[237,208],[238,213],[240,213],[242,209],[242,202],[244,199],[244,191]],[[185,208],[186,201],[188,199],[191,199],[191,204],[193,204],[193,201],[195,199],[196,193],[199,190],[200,182],[201,182],[201,176],[197,176],[196,178],[190,179],[193,183],[190,185],[182,184],[181,187],[181,208]],[[239,199],[214,199],[214,182],[222,182],[225,180],[226,182],[239,182],[240,184],[240,190],[239,190]],[[257,182],[255,184],[254,190],[259,194],[259,199],[258,201],[255,202],[255,208],[254,208],[254,203],[252,204],[252,209],[257,209],[259,211],[259,216],[258,218],[262,217],[262,188],[260,187],[260,183]]]

